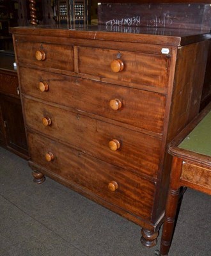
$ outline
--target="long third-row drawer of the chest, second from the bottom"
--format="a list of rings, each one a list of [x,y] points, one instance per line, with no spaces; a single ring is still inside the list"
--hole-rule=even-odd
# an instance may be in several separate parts
[[[24,109],[29,129],[121,168],[157,176],[160,139],[35,100],[24,99]]]

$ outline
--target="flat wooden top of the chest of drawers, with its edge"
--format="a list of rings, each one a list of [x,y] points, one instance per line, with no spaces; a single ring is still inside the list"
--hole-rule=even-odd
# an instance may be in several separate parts
[[[201,30],[111,26],[26,26],[10,28],[13,34],[57,36],[89,40],[112,40],[144,44],[182,46],[208,40],[211,34]]]

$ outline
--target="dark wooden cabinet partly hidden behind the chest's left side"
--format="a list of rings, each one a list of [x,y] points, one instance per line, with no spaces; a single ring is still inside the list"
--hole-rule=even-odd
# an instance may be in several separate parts
[[[14,54],[0,52],[0,145],[28,158]]]

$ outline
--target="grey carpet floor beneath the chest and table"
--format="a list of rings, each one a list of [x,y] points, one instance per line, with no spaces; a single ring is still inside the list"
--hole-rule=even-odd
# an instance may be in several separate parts
[[[211,255],[210,196],[187,189],[169,256]],[[141,228],[0,148],[0,256],[153,256]]]

